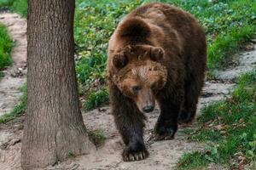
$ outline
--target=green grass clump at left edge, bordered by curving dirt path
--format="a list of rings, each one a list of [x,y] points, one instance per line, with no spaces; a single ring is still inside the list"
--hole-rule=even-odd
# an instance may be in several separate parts
[[[9,37],[7,29],[0,24],[0,71],[11,64],[10,52],[12,46],[13,42]]]

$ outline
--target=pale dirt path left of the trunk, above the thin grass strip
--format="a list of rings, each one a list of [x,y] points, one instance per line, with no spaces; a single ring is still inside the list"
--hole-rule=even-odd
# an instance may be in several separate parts
[[[0,14],[0,23],[9,31],[14,43],[11,52],[13,64],[4,72],[0,81],[0,116],[12,111],[19,103],[20,86],[26,81],[26,20],[18,14]]]

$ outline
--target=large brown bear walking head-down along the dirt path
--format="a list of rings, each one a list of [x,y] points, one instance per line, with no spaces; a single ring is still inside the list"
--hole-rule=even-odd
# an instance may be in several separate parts
[[[207,45],[195,18],[163,3],[127,14],[108,43],[108,86],[114,122],[125,143],[124,161],[148,156],[145,113],[160,106],[156,140],[173,139],[178,123],[192,122],[204,82]]]

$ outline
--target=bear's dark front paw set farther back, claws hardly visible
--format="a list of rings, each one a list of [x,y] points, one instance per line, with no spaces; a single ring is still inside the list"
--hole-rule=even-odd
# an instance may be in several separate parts
[[[174,139],[174,134],[177,131],[177,127],[155,127],[154,129],[154,140],[170,140]]]

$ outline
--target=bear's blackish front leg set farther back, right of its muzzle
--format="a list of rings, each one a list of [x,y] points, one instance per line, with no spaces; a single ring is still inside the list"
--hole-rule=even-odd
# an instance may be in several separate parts
[[[160,116],[154,127],[155,140],[173,139],[177,131],[177,116],[181,102],[164,99],[159,102]]]

